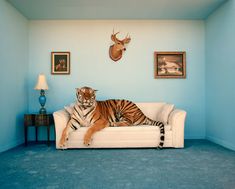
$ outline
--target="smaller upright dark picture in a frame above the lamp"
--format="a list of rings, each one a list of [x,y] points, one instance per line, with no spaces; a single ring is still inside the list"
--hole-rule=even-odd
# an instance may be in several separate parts
[[[70,52],[51,52],[51,74],[70,74]]]

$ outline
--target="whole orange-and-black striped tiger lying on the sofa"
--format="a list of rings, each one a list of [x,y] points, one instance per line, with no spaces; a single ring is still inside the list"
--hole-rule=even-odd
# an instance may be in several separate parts
[[[160,129],[158,148],[164,145],[165,129],[160,121],[154,121],[144,115],[138,106],[129,100],[96,100],[96,92],[90,87],[76,89],[76,103],[70,120],[64,128],[59,146],[66,148],[69,134],[79,127],[89,127],[84,136],[84,145],[91,144],[92,136],[105,127],[155,125]]]

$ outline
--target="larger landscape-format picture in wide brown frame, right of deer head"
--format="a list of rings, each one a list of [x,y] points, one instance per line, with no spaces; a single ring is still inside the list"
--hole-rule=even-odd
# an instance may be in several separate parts
[[[185,52],[154,52],[155,78],[186,78]]]

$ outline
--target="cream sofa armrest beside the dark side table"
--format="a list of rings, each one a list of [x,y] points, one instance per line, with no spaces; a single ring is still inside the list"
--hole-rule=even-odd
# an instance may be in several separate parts
[[[58,143],[64,128],[66,127],[70,115],[66,112],[66,110],[58,110],[53,113],[54,122],[55,122],[55,132],[56,132],[56,148],[59,148]]]

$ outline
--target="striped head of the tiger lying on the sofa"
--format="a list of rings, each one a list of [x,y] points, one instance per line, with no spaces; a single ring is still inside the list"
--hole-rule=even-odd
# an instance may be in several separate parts
[[[83,108],[89,108],[95,105],[95,102],[96,102],[95,93],[97,90],[94,90],[90,87],[77,88],[76,90],[77,90],[76,95],[77,95],[78,103]]]

